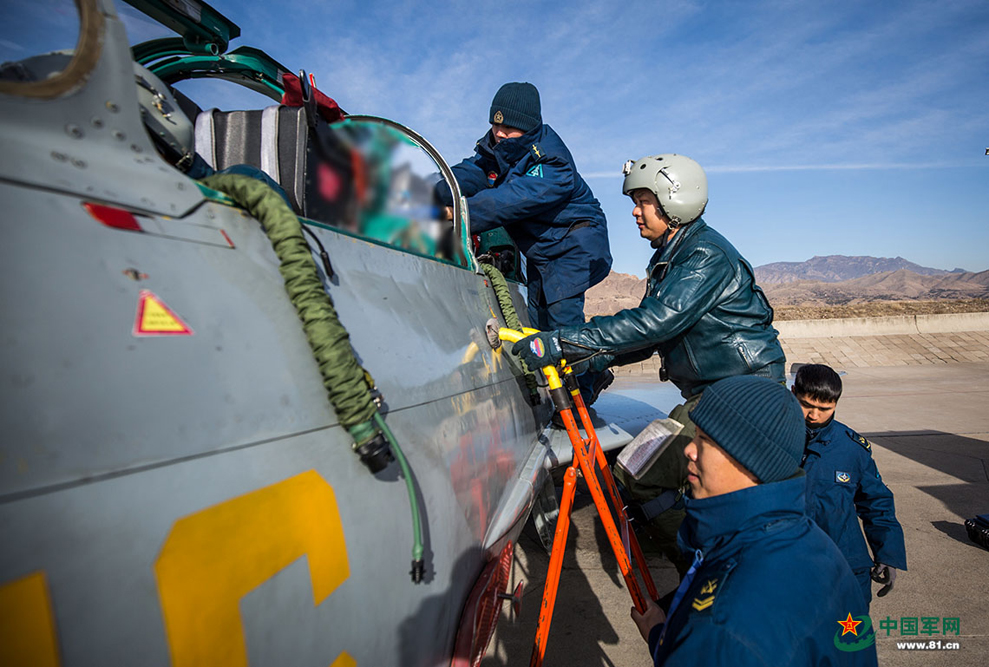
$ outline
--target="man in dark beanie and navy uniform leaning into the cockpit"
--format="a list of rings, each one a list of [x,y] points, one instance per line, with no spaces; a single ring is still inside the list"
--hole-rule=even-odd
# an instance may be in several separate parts
[[[503,85],[491,102],[490,131],[473,157],[453,167],[467,198],[470,231],[504,227],[526,258],[531,326],[559,329],[584,323],[584,292],[611,270],[604,211],[577,173],[563,139],[543,123],[531,83]],[[450,189],[436,195],[452,216]],[[592,402],[610,371],[578,378]]]

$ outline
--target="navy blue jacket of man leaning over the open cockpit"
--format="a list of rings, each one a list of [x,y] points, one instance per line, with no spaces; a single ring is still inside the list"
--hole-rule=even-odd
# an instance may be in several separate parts
[[[475,150],[453,167],[471,233],[504,227],[525,255],[529,289],[541,290],[547,304],[604,280],[611,270],[604,211],[553,128],[497,144],[488,132]],[[440,184],[436,194],[451,205],[449,188]]]

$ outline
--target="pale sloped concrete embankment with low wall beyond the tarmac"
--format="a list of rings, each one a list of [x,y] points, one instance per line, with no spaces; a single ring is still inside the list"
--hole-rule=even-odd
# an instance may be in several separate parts
[[[776,322],[786,361],[832,368],[989,362],[989,313]],[[659,357],[613,369],[658,375]]]

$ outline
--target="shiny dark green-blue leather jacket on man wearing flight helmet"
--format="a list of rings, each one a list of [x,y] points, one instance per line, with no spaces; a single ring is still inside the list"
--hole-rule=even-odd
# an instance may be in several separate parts
[[[638,308],[560,330],[567,359],[601,353],[591,369],[602,370],[659,352],[685,398],[736,375],[783,381],[773,309],[749,263],[703,219],[657,250],[646,272]]]

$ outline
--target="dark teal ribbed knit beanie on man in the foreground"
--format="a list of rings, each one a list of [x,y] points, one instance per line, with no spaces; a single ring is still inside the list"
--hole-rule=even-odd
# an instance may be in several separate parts
[[[804,415],[779,382],[742,375],[704,390],[690,419],[760,482],[778,482],[800,468]]]

